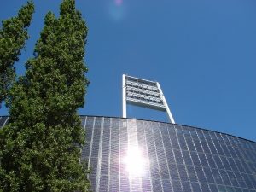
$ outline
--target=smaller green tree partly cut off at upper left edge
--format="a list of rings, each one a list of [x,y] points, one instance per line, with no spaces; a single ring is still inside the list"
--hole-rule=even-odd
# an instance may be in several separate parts
[[[32,20],[34,5],[28,2],[16,17],[2,21],[0,30],[0,104],[8,96],[15,81],[15,61],[28,38],[27,28]]]

